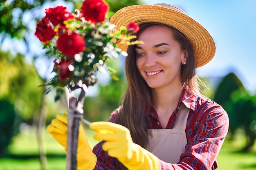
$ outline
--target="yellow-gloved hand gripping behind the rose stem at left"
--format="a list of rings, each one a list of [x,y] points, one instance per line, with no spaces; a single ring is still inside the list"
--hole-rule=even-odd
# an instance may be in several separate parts
[[[47,127],[47,131],[64,146],[67,150],[67,113],[59,113],[57,119],[52,120],[52,124]],[[79,126],[77,144],[77,170],[93,170],[97,157],[92,152],[82,125]]]

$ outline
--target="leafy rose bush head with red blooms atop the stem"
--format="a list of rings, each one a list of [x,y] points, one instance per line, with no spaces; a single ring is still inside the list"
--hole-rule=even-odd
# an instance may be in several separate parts
[[[85,0],[81,10],[74,13],[63,6],[45,9],[46,15],[36,24],[35,35],[47,49],[46,54],[56,59],[53,68],[56,74],[45,84],[49,90],[66,86],[73,91],[92,86],[105,72],[116,78],[115,70],[107,67],[110,58],[122,53],[116,43],[141,42],[130,42],[136,38],[132,33],[139,26],[130,23],[128,29],[116,30],[106,18],[108,9],[104,0]]]

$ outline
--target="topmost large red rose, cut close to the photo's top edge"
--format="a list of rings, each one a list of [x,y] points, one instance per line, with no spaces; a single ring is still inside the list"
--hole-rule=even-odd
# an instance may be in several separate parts
[[[108,9],[109,6],[104,0],[85,0],[81,7],[81,13],[87,21],[103,22]]]

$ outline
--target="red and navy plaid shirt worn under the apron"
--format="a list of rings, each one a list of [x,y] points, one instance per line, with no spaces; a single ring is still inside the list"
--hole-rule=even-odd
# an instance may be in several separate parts
[[[159,160],[161,170],[214,170],[218,167],[216,157],[227,135],[229,119],[225,110],[210,99],[203,99],[198,95],[184,90],[177,108],[171,115],[166,128],[173,128],[178,106],[183,102],[190,108],[186,125],[185,151],[180,156],[178,163],[167,163]],[[118,109],[113,113],[109,121],[113,121],[118,114]],[[148,129],[162,129],[154,108],[148,113],[150,119]],[[94,170],[117,170],[115,158],[108,156],[102,150],[99,142],[93,148],[97,155],[97,165]]]

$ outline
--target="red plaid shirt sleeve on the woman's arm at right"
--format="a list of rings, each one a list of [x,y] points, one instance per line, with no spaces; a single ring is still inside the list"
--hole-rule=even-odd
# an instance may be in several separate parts
[[[229,118],[214,102],[200,104],[189,116],[186,136],[188,143],[177,164],[159,160],[161,170],[214,170],[216,157],[227,135]]]

